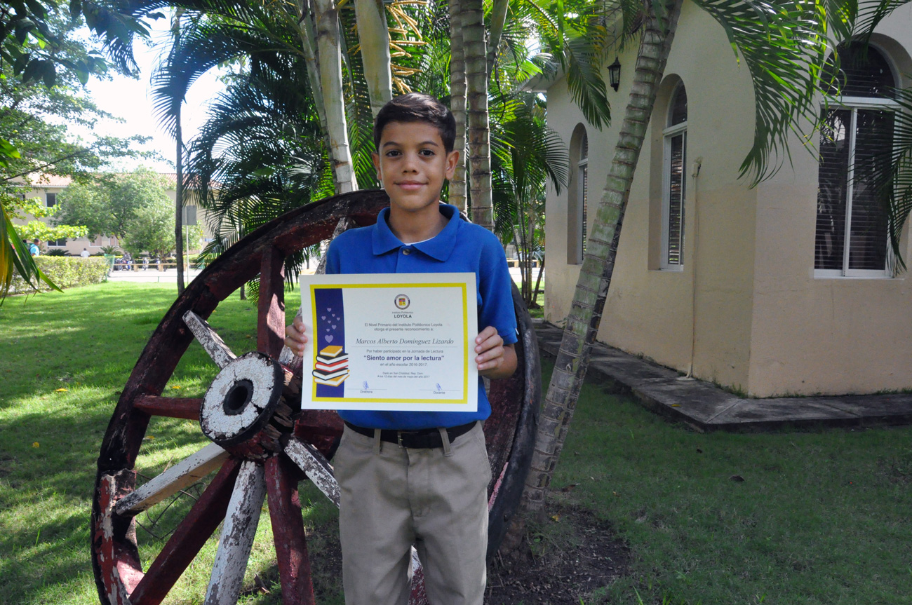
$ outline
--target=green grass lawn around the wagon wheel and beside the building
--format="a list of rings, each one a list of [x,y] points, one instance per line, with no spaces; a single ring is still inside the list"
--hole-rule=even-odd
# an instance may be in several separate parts
[[[0,604],[98,602],[88,551],[95,458],[173,296],[166,284],[98,284],[0,308]],[[254,305],[234,298],[210,321],[235,352],[254,346]],[[169,394],[199,396],[214,374],[194,344]],[[192,422],[155,419],[137,468],[152,476],[203,441]],[[631,575],[586,605],[912,603],[908,427],[701,435],[586,385],[554,477],[555,488],[569,484],[579,485],[555,498],[609,521],[632,554]],[[331,531],[324,498],[302,484],[302,500],[306,523]],[[164,534],[191,501],[140,523]],[[562,528],[534,530],[557,542]],[[139,536],[148,564],[161,542]],[[271,541],[262,522],[244,603],[281,602]],[[214,542],[168,602],[202,602]],[[311,544],[314,559],[319,548]],[[271,594],[254,590],[255,576]],[[340,603],[328,584],[319,602]]]

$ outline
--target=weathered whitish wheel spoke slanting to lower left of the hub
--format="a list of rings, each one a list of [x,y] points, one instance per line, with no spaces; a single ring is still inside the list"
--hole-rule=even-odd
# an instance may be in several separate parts
[[[121,516],[139,515],[143,510],[209,475],[221,467],[227,457],[228,452],[211,443],[199,452],[187,456],[158,477],[151,478],[129,496],[121,498],[114,507],[114,512]]]

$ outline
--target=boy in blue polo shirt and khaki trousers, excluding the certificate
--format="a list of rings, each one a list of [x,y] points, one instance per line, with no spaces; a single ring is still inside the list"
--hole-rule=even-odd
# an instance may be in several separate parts
[[[346,231],[327,251],[327,273],[474,272],[479,374],[516,369],[516,321],[503,248],[489,231],[440,204],[459,160],[456,124],[434,97],[389,101],[374,126],[374,166],[390,207],[372,227]],[[285,344],[303,355],[299,318]],[[478,412],[340,411],[333,463],[341,489],[339,536],[347,605],[405,605],[410,547],[418,549],[432,605],[482,605],[491,467],[480,421],[491,405],[479,378]]]

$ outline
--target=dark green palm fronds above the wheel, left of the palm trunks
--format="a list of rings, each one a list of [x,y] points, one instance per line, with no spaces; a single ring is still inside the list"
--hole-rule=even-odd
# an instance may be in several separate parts
[[[196,77],[220,63],[243,66],[212,103],[185,164],[185,180],[193,183],[185,203],[208,210],[216,234],[202,261],[288,210],[333,193],[306,63],[296,50],[295,19],[284,9],[244,5],[238,7],[248,17],[242,23],[223,9],[185,13],[181,36],[153,77],[161,122],[173,131],[181,99]],[[358,181],[368,183],[362,176],[359,171]],[[285,259],[289,282],[305,256]]]

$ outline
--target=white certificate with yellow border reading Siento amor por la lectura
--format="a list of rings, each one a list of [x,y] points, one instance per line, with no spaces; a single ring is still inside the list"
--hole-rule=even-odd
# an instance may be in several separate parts
[[[302,275],[304,409],[475,412],[474,273]]]

